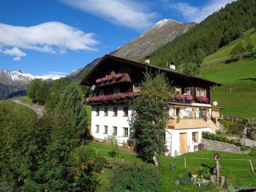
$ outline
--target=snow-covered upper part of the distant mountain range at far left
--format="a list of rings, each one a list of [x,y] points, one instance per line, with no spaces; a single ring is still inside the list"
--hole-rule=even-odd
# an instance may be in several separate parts
[[[52,79],[56,80],[59,76],[54,75],[32,75],[24,73],[22,70],[18,71],[9,71],[9,70],[0,70],[0,83],[6,84],[7,86],[21,86],[30,83],[33,79]]]

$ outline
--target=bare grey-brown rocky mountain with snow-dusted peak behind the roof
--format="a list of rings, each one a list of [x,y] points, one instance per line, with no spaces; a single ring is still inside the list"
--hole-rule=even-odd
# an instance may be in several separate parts
[[[139,61],[160,46],[187,32],[195,25],[196,23],[183,24],[173,19],[163,19],[150,29],[147,29],[139,37],[111,52],[110,55]],[[92,69],[100,59],[96,58],[83,69],[79,69],[75,73],[68,75],[67,78],[79,80],[82,72]]]

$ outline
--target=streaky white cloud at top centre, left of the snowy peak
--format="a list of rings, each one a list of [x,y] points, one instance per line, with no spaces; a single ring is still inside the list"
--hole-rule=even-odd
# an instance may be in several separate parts
[[[69,6],[88,12],[115,25],[143,30],[153,25],[157,13],[147,13],[145,4],[132,0],[59,0]]]

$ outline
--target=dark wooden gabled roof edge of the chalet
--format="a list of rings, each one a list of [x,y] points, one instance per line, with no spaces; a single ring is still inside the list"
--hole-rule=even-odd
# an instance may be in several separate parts
[[[194,75],[189,75],[189,74],[185,74],[185,73],[181,73],[181,72],[178,72],[178,71],[175,71],[175,70],[170,70],[170,69],[165,69],[165,68],[160,68],[160,67],[157,67],[157,66],[152,66],[152,65],[149,65],[147,63],[142,63],[142,62],[137,62],[137,61],[133,61],[133,60],[129,60],[129,59],[124,59],[124,58],[121,58],[121,57],[116,57],[116,56],[113,56],[113,55],[109,55],[109,54],[106,54],[104,57],[102,57],[102,59],[98,62],[98,64],[92,69],[92,71],[80,82],[81,85],[84,85],[84,86],[90,86],[91,84],[87,81],[88,77],[90,77],[90,75],[95,71],[97,70],[97,68],[104,62],[104,60],[106,59],[112,59],[112,60],[116,60],[116,61],[119,61],[119,62],[123,62],[123,63],[126,63],[128,65],[134,65],[134,66],[138,66],[138,67],[141,67],[141,68],[152,68],[152,69],[158,69],[160,71],[164,71],[164,72],[167,72],[167,73],[170,73],[170,74],[176,74],[176,75],[179,75],[181,77],[186,77],[186,78],[190,78],[190,79],[193,79],[193,80],[198,80],[198,81],[203,81],[207,84],[210,84],[211,86],[221,86],[222,84],[221,83],[218,83],[218,82],[214,82],[214,81],[210,81],[210,80],[207,80],[207,79],[204,79],[204,78],[200,78],[200,77],[196,77]]]

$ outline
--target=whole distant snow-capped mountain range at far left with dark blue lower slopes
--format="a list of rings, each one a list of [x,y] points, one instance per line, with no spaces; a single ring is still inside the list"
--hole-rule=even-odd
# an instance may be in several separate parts
[[[6,69],[0,70],[0,100],[26,95],[28,84],[36,78],[52,83],[53,80],[59,77],[53,75],[31,75],[24,73],[22,70],[12,72]]]

